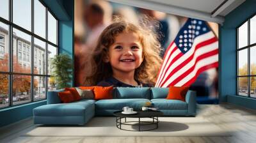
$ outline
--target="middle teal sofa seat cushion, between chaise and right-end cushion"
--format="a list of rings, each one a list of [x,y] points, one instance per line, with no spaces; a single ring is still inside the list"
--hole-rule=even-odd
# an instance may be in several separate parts
[[[99,100],[95,102],[95,109],[122,110],[123,107],[127,106],[138,110],[141,109],[146,102],[150,102],[150,100],[142,98]]]

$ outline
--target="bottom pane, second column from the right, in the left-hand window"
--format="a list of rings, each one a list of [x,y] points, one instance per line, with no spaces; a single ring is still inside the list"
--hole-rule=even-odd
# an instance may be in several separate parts
[[[34,100],[46,99],[46,77],[34,77]]]

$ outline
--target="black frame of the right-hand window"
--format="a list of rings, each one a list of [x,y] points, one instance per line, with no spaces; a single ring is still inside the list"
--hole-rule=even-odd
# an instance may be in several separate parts
[[[255,97],[251,96],[251,87],[250,87],[250,79],[252,77],[256,77],[256,75],[252,75],[251,74],[251,63],[250,63],[250,50],[256,46],[256,42],[250,44],[250,19],[252,19],[253,17],[256,16],[256,13],[254,13],[253,15],[251,15],[250,17],[248,17],[248,19],[244,20],[244,22],[242,22],[239,26],[236,27],[236,95],[237,96],[243,96],[241,94],[239,94],[239,77],[247,77],[247,96],[243,96],[243,97],[247,97],[247,98],[253,98],[255,99]],[[241,47],[239,49],[239,27],[243,26],[244,23],[248,22],[248,40],[247,40],[247,45],[245,47]],[[248,56],[248,66],[247,66],[247,75],[239,75],[239,51],[247,49],[247,56]]]

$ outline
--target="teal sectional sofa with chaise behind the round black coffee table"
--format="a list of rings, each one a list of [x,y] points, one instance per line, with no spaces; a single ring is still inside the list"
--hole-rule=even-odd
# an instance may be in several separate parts
[[[158,107],[164,116],[196,116],[196,93],[188,91],[186,102],[166,100],[168,88],[116,87],[113,99],[79,100],[61,103],[58,91],[49,91],[47,105],[33,109],[35,124],[86,124],[94,116],[113,116],[113,112],[128,106],[140,110],[146,102]]]

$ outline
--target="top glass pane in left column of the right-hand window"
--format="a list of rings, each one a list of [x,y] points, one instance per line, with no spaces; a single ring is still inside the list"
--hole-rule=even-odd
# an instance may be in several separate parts
[[[248,22],[238,28],[238,48],[248,45]]]

